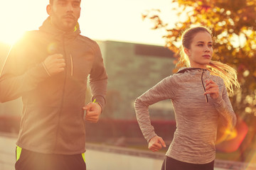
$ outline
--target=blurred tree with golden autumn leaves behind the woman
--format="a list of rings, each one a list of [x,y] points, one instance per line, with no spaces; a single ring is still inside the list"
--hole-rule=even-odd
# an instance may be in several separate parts
[[[213,60],[238,70],[241,88],[230,98],[235,113],[254,127],[256,123],[256,0],[173,0],[179,20],[170,26],[161,20],[159,9],[145,11],[143,18],[154,22],[153,29],[164,29],[166,47],[176,52],[181,33],[191,26],[213,30]],[[185,19],[184,19],[185,16]],[[176,72],[176,70],[174,71]],[[255,128],[249,128],[255,134]]]

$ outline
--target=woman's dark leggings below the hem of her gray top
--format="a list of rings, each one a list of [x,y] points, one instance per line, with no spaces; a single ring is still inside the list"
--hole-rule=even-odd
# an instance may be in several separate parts
[[[190,164],[165,157],[161,170],[213,170],[214,161],[208,164]]]

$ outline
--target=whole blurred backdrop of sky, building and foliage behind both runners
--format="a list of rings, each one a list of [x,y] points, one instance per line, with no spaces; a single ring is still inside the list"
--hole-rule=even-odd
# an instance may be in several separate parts
[[[0,3],[1,69],[11,45],[47,18],[48,1]],[[95,162],[100,157],[109,163],[115,160],[113,164],[125,162],[127,169],[160,169],[167,148],[149,152],[133,103],[176,72],[181,33],[198,25],[213,30],[213,60],[238,70],[241,86],[230,97],[238,116],[235,135],[218,134],[215,169],[256,169],[256,0],[82,0],[81,8],[82,35],[100,45],[109,76],[100,121],[86,123],[88,169],[118,169],[100,167]],[[21,109],[21,98],[0,103],[0,169],[13,169]],[[156,133],[169,145],[176,129],[171,101],[156,103],[149,112]],[[138,160],[140,166],[134,166]]]

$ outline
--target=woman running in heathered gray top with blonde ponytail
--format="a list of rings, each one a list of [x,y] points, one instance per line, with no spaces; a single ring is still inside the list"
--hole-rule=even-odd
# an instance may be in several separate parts
[[[149,119],[149,106],[171,99],[176,117],[174,139],[162,170],[213,170],[218,123],[232,131],[237,118],[228,98],[239,87],[235,69],[212,61],[211,32],[203,26],[182,35],[179,64],[184,67],[166,77],[136,99],[139,127],[153,152],[166,147]]]

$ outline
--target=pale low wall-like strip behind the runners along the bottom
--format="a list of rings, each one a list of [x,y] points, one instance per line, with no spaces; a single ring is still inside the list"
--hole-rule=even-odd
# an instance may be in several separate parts
[[[0,134],[0,169],[14,170],[16,136]],[[87,170],[156,170],[161,169],[162,154],[151,154],[135,149],[87,145]],[[153,156],[152,156],[153,155]],[[224,162],[225,164],[225,162]],[[256,168],[255,168],[256,169]],[[215,170],[226,170],[215,168]],[[246,169],[247,170],[247,169]]]

